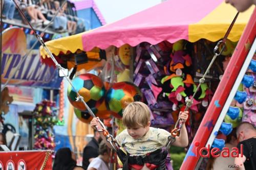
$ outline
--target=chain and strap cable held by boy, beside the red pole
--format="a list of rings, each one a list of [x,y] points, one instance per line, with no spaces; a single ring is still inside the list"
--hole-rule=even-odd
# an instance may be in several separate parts
[[[215,59],[216,59],[218,56],[220,56],[220,55],[222,54],[222,52],[224,51],[224,48],[225,48],[225,46],[226,46],[227,37],[228,37],[228,35],[229,35],[229,33],[230,33],[230,31],[231,31],[233,25],[234,25],[234,22],[236,22],[238,15],[239,15],[239,12],[236,14],[236,16],[234,17],[234,19],[232,20],[232,22],[231,22],[231,24],[230,24],[230,26],[229,26],[229,28],[228,28],[226,34],[225,34],[224,37],[223,37],[223,39],[220,40],[220,41],[216,44],[216,46],[215,46],[215,48],[214,48],[214,57],[211,59],[211,62],[210,62],[210,64],[208,65],[208,67],[207,67],[207,69],[206,69],[206,71],[205,71],[203,77],[199,80],[199,84],[198,84],[197,89],[196,89],[196,91],[194,92],[193,96],[191,97],[191,99],[187,99],[187,100],[185,101],[185,102],[186,102],[186,108],[184,109],[184,111],[187,111],[187,110],[189,109],[189,107],[191,107],[191,106],[193,105],[193,99],[194,99],[196,93],[198,92],[198,90],[199,90],[201,84],[204,83],[204,81],[205,81],[205,76],[208,74],[208,72],[209,72],[209,70],[210,70],[212,64],[214,64]],[[218,51],[218,49],[219,49],[219,47],[220,47],[221,44],[223,45],[223,47],[221,48],[221,51],[218,53],[217,51]],[[182,121],[182,124],[180,124],[180,121]],[[174,138],[177,136],[178,131],[181,130],[183,124],[184,124],[183,120],[182,120],[181,118],[179,118],[179,119],[177,120],[176,124],[175,124],[174,129],[173,129],[172,132],[171,132],[171,135],[172,135],[172,136],[169,136],[169,138],[168,138],[169,141],[167,142],[166,148],[170,147],[170,144],[172,144],[172,142],[175,141]]]

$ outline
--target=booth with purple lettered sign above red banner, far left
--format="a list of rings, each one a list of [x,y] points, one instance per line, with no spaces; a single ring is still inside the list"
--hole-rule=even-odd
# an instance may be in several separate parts
[[[41,102],[42,91],[59,91],[62,78],[41,64],[36,38],[23,28],[6,28],[2,38],[0,169],[51,169],[59,105]]]

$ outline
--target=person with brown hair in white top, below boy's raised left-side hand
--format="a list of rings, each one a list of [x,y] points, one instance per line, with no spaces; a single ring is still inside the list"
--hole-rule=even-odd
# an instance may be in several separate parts
[[[99,156],[89,164],[88,170],[109,170],[110,149],[104,141],[99,144]]]

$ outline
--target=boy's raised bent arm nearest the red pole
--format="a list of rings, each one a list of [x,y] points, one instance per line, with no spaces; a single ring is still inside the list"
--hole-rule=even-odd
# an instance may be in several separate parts
[[[179,118],[183,120],[182,128],[180,129],[180,136],[176,136],[176,140],[173,143],[176,147],[187,147],[188,145],[188,136],[187,136],[187,130],[185,126],[185,122],[188,118],[188,111],[180,112]]]

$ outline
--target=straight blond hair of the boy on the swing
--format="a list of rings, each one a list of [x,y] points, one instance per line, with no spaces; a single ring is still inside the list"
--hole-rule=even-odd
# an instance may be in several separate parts
[[[133,102],[123,111],[123,125],[126,127],[145,127],[150,122],[150,109],[142,102]]]

